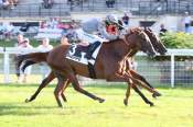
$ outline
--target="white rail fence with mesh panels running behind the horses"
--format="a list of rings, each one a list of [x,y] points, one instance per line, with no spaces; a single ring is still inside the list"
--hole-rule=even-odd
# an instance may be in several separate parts
[[[0,66],[2,70],[0,74],[3,76],[2,83],[13,82],[12,74],[14,74],[14,61],[12,60],[14,54],[23,54],[39,51],[37,49],[20,49],[20,48],[3,48],[0,47]],[[176,57],[186,56],[193,57],[193,49],[168,49],[167,60],[156,60],[146,57],[143,54],[138,54],[136,57],[137,71],[144,76],[152,85],[171,85],[175,84],[192,85],[193,84],[193,61],[179,60]],[[165,57],[164,57],[165,58]],[[37,67],[33,67],[32,74],[41,74]],[[36,79],[35,79],[36,80]],[[41,80],[41,79],[40,79]],[[37,80],[36,80],[37,81]],[[90,80],[89,80],[90,82]],[[40,81],[39,81],[40,83]]]

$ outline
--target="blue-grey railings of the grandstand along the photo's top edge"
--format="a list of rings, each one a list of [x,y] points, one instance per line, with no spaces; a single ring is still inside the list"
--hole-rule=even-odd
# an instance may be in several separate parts
[[[15,16],[68,16],[72,12],[108,12],[131,11],[133,15],[182,14],[184,11],[193,13],[191,0],[115,0],[112,8],[108,8],[104,0],[54,0],[51,9],[45,9],[42,0],[20,0],[11,10],[1,9],[1,18]]]

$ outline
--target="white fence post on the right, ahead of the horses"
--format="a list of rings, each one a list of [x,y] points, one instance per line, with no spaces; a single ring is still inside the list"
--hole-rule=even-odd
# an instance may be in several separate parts
[[[174,62],[174,54],[171,54],[171,88],[174,88],[174,83],[175,83],[175,76],[174,76],[174,71],[175,71],[175,62]]]

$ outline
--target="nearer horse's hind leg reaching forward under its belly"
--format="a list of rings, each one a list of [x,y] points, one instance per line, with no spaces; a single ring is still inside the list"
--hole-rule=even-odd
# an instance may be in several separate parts
[[[78,82],[78,80],[77,80],[77,78],[76,78],[75,74],[68,76],[68,79],[69,79],[69,81],[72,82],[73,88],[74,88],[76,91],[78,91],[79,93],[82,93],[82,94],[84,94],[84,95],[86,95],[86,96],[88,96],[88,97],[90,97],[90,99],[93,99],[93,100],[97,100],[99,103],[103,103],[103,102],[105,101],[104,99],[100,99],[100,97],[98,97],[98,96],[96,96],[96,95],[89,93],[88,91],[82,89],[81,85],[79,85],[79,82]]]

